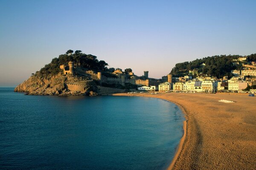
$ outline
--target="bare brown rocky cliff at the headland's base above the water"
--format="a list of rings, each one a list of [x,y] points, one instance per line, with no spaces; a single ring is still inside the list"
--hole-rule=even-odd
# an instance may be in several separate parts
[[[68,84],[79,84],[79,91],[68,89]],[[64,75],[58,73],[56,75],[48,75],[42,77],[35,74],[20,85],[15,92],[26,92],[29,95],[95,95],[97,87],[95,82],[89,77],[77,77],[73,75]]]

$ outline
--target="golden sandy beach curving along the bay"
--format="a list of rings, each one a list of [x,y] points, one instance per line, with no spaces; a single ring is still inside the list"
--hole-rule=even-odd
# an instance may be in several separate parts
[[[166,99],[185,113],[174,170],[255,170],[256,97],[248,94],[114,94]],[[218,102],[230,100],[234,103]]]

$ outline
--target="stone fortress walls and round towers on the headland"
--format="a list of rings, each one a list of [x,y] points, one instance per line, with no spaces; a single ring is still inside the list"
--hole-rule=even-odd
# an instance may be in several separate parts
[[[68,65],[60,65],[61,70],[65,75],[81,75],[91,77],[93,80],[99,81],[100,85],[102,83],[106,84],[120,84],[125,86],[125,83],[131,83],[132,85],[145,85],[149,87],[149,79],[148,79],[148,71],[144,71],[144,76],[138,77],[134,75],[133,72],[129,72],[125,74],[120,68],[116,68],[116,70],[112,73],[116,75],[116,77],[106,77],[102,75],[102,72],[95,73],[92,70],[85,70],[84,68],[78,68],[72,61],[68,63]]]

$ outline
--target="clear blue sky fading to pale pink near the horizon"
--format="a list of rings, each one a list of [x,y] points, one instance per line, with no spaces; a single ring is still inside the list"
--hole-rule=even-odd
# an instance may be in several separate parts
[[[256,0],[0,0],[0,86],[67,50],[152,78],[178,62],[256,53]]]

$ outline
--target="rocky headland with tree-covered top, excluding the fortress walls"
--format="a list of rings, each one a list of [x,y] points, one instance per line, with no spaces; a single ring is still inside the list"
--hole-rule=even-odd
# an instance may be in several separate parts
[[[77,68],[101,71],[108,75],[108,64],[105,61],[99,61],[96,56],[83,54],[80,50],[73,53],[68,50],[66,54],[59,55],[52,59],[52,62],[41,68],[29,79],[18,85],[14,91],[26,92],[29,95],[93,95],[97,91],[96,82],[90,76],[80,74],[64,75],[61,65],[68,65],[73,61]],[[79,87],[78,91],[70,91],[70,86]]]

